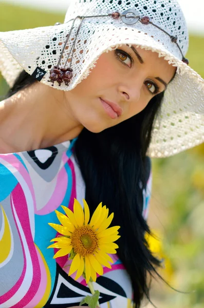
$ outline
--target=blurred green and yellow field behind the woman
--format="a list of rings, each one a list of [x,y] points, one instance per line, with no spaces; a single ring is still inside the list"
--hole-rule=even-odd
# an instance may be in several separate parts
[[[53,25],[63,14],[0,3],[0,31]],[[190,65],[204,78],[203,37],[190,35]],[[0,99],[8,85],[0,75]],[[153,160],[153,192],[149,224],[159,235],[153,243],[165,259],[160,274],[182,292],[153,282],[158,308],[204,307],[204,145],[167,159]],[[145,305],[145,304],[144,304]],[[151,304],[148,307],[153,307]]]

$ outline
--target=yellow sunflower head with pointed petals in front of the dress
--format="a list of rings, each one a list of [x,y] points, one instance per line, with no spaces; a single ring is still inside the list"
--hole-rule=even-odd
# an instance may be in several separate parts
[[[79,201],[75,199],[73,212],[62,205],[66,215],[55,210],[61,225],[55,223],[49,225],[62,236],[52,239],[50,242],[56,243],[48,248],[59,248],[53,258],[70,254],[73,260],[68,275],[77,271],[75,280],[83,274],[88,283],[90,279],[96,281],[97,273],[103,275],[102,265],[111,268],[109,262],[113,263],[113,259],[108,254],[116,254],[118,245],[114,241],[120,237],[118,235],[120,227],[108,228],[114,213],[108,216],[108,208],[102,206],[102,202],[97,206],[91,219],[85,200],[83,204],[84,211]]]

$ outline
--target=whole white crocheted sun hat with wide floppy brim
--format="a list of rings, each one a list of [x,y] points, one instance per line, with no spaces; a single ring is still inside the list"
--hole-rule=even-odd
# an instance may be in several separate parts
[[[157,52],[177,67],[154,123],[149,156],[168,157],[202,143],[204,80],[184,57],[189,35],[176,0],[72,0],[64,24],[0,32],[0,70],[10,86],[24,69],[69,91],[103,52],[123,44]]]

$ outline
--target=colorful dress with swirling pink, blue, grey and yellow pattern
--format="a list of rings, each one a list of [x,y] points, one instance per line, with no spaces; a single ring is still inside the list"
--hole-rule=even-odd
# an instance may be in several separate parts
[[[64,308],[90,295],[84,279],[68,276],[67,256],[53,259],[47,249],[59,223],[55,209],[81,204],[85,185],[69,141],[29,152],[0,155],[0,307]],[[151,177],[143,192],[147,217]],[[117,255],[112,269],[94,283],[101,308],[132,307],[129,276]],[[73,274],[75,276],[75,274]]]

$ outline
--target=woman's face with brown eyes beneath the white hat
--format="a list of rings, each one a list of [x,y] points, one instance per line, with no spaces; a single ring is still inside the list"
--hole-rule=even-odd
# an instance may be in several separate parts
[[[66,101],[77,122],[100,132],[143,110],[175,71],[157,52],[123,45],[103,53],[88,77],[65,92]]]

